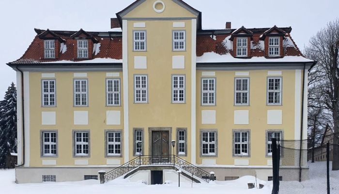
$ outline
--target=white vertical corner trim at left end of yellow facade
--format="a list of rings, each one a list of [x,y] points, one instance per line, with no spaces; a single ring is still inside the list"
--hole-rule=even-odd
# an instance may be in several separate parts
[[[24,72],[25,167],[30,167],[30,72]]]

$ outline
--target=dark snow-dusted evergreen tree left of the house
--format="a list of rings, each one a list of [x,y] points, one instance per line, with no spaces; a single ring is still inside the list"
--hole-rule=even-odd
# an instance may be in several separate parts
[[[0,168],[6,167],[6,157],[17,152],[16,88],[12,82],[0,103]]]

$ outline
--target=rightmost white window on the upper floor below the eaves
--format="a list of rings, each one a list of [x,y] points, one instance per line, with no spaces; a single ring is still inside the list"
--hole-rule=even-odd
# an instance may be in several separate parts
[[[268,78],[267,82],[267,104],[281,105],[281,78]]]

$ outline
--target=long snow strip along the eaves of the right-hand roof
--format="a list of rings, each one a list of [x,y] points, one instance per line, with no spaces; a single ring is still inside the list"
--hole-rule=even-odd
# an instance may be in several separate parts
[[[242,62],[313,62],[303,56],[285,56],[283,58],[267,59],[265,57],[252,57],[250,59],[234,58],[231,54],[219,55],[215,52],[205,52],[197,57],[197,63],[242,63]]]

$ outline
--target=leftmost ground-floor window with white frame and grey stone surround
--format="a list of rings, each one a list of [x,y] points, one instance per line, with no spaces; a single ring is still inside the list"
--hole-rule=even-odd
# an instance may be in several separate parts
[[[57,133],[43,132],[43,156],[57,155]]]

